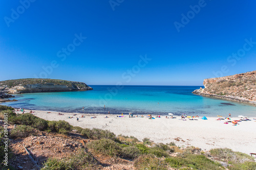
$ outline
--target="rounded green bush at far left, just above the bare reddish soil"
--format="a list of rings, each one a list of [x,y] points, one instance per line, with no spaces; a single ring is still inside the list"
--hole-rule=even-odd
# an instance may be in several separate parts
[[[18,137],[28,137],[30,135],[35,135],[36,130],[31,126],[26,125],[18,125],[14,129],[11,130],[11,137],[18,138]]]

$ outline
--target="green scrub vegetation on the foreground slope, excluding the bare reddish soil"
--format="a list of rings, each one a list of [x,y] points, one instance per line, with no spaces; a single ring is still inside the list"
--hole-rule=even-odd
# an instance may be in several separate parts
[[[174,142],[154,143],[149,138],[139,141],[133,136],[116,136],[108,130],[101,129],[83,129],[73,127],[64,120],[48,121],[36,117],[35,115],[24,113],[15,114],[14,109],[7,106],[0,106],[2,113],[8,113],[8,122],[14,128],[9,128],[12,142],[15,139],[25,140],[28,137],[56,138],[60,140],[61,136],[65,143],[63,147],[73,148],[73,152],[62,157],[47,157],[40,164],[41,169],[102,169],[108,166],[102,163],[102,160],[127,160],[132,162],[136,169],[255,169],[256,162],[249,155],[233,152],[230,149],[212,149],[204,152],[195,147],[178,147]],[[1,119],[3,119],[1,117]],[[3,162],[4,153],[4,128],[0,127],[1,142],[0,153],[1,162]],[[75,135],[87,139],[82,145],[77,140],[73,144],[68,144],[67,139],[75,132]],[[37,136],[37,137],[36,137]],[[53,136],[53,137],[51,137]],[[72,136],[71,136],[72,137]],[[72,137],[73,139],[74,137]],[[35,142],[42,145],[44,142]],[[80,143],[80,144],[79,144]],[[51,143],[55,145],[56,143]],[[12,145],[10,145],[12,146]],[[41,148],[42,149],[42,148]],[[9,149],[10,159],[14,159],[12,148]],[[39,151],[38,151],[39,152]],[[67,152],[67,151],[66,151]],[[15,168],[9,166],[8,168]],[[1,168],[7,169],[1,164]]]

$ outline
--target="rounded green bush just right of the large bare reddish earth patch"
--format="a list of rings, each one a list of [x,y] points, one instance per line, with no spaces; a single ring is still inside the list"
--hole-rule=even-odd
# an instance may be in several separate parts
[[[122,149],[111,139],[94,140],[87,144],[88,148],[110,156],[119,156]]]

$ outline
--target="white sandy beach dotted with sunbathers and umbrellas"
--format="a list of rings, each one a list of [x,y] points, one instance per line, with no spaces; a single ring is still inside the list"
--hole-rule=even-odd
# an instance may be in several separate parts
[[[104,118],[106,114],[61,112],[64,115],[58,115],[58,112],[54,111],[33,111],[34,115],[46,120],[65,120],[72,126],[110,130],[116,135],[135,136],[139,140],[147,137],[157,143],[175,142],[179,146],[193,145],[202,150],[229,148],[246,154],[256,153],[256,120],[253,119],[255,117],[251,117],[251,121],[242,121],[240,125],[232,126],[232,123],[224,124],[226,120],[216,120],[218,117],[183,121],[180,116],[174,116],[177,117],[174,119],[165,117],[148,119],[146,115],[129,118],[129,115],[117,117],[110,114],[107,115],[109,118]],[[69,116],[74,118],[68,118]],[[91,118],[93,116],[96,118]],[[79,122],[76,117],[79,118]],[[231,117],[231,120],[236,119],[239,118]]]

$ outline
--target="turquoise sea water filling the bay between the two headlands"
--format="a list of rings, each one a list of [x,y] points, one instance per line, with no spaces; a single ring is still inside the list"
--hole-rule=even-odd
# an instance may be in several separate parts
[[[4,103],[17,108],[80,112],[135,113],[199,116],[256,116],[256,107],[191,93],[200,86],[123,86],[92,85],[94,90],[18,94],[18,102]],[[232,105],[227,105],[232,104]],[[105,105],[105,108],[104,108]],[[82,110],[84,107],[84,110]]]

